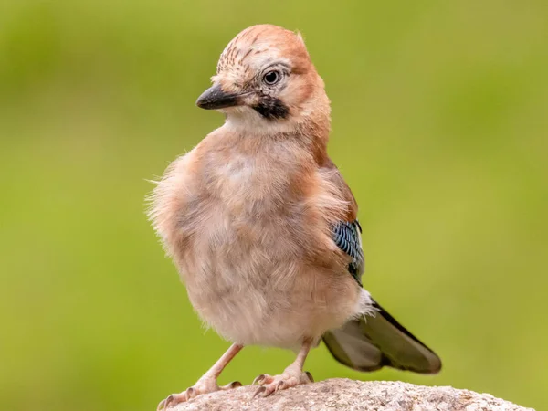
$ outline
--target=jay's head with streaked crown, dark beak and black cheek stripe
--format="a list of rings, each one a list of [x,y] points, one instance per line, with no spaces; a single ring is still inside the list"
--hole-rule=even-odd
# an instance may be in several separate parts
[[[329,129],[323,80],[300,34],[271,25],[246,28],[228,43],[212,81],[196,104],[223,111],[228,123],[256,132]]]

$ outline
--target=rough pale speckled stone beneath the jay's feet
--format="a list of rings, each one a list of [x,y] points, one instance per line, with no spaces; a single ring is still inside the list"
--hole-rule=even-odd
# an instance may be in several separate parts
[[[300,385],[267,398],[255,398],[257,386],[200,395],[170,411],[525,411],[489,394],[450,386],[422,386],[400,382],[362,382],[336,378]]]

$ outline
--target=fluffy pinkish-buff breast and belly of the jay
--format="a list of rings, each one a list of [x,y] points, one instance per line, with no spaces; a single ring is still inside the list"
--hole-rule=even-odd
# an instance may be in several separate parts
[[[231,341],[291,346],[354,310],[353,279],[326,258],[335,246],[319,172],[284,150],[192,153],[160,190],[171,206],[158,219],[174,227],[165,242],[189,299]]]

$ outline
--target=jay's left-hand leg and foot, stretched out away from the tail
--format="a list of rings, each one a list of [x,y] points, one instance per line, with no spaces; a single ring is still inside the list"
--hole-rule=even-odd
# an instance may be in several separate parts
[[[228,390],[230,388],[237,388],[238,386],[242,386],[241,383],[237,381],[223,386],[218,386],[216,384],[216,379],[219,374],[221,374],[227,364],[230,363],[230,361],[236,356],[237,353],[239,353],[242,348],[243,345],[239,345],[236,343],[232,344],[230,348],[228,348],[227,352],[218,359],[216,364],[213,364],[213,366],[209,370],[207,370],[204,375],[202,375],[202,377],[196,382],[195,385],[187,388],[182,393],[169,395],[167,398],[162,400],[160,404],[158,404],[157,410],[160,411],[162,409],[167,409],[170,406],[176,406],[177,404],[184,403],[185,401],[188,401],[189,399],[194,398],[197,395],[213,393],[214,391],[218,390]]]

